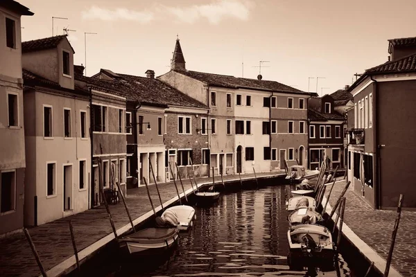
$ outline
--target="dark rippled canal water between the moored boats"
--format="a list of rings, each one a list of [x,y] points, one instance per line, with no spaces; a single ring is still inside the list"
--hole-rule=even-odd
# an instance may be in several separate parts
[[[289,270],[285,203],[290,191],[290,186],[268,186],[222,193],[217,203],[195,207],[193,228],[180,233],[166,256],[125,260],[113,252],[88,271],[94,276],[361,276],[343,256],[336,271]]]

